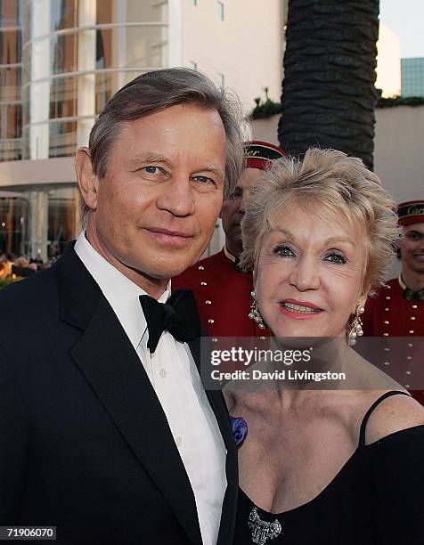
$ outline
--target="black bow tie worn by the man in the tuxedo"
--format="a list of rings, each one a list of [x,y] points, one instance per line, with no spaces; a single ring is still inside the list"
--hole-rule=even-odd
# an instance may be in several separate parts
[[[167,303],[140,296],[140,303],[149,329],[147,347],[151,354],[156,350],[163,331],[169,331],[183,342],[200,337],[200,315],[192,290],[177,289]]]

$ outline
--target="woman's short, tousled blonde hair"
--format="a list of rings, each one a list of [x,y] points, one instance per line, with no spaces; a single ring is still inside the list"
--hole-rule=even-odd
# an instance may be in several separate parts
[[[241,224],[245,270],[255,268],[265,235],[293,205],[318,215],[322,210],[342,214],[352,229],[363,226],[368,254],[363,290],[371,291],[384,282],[400,236],[395,201],[361,159],[316,148],[307,150],[303,160],[274,161],[253,191]]]

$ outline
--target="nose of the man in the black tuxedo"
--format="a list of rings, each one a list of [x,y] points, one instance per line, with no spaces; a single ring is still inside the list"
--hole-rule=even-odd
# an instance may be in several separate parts
[[[164,183],[156,204],[160,210],[167,210],[173,216],[183,217],[194,214],[194,191],[190,177],[178,175],[169,183]]]

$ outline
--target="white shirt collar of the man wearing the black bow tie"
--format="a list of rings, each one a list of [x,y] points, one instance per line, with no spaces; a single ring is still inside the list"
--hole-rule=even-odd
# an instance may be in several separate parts
[[[78,236],[74,249],[87,271],[102,289],[102,294],[118,316],[127,337],[136,349],[147,328],[139,297],[149,294],[102,257],[87,240],[85,231]],[[159,303],[166,303],[170,294],[171,281],[167,283],[167,289],[159,297]]]

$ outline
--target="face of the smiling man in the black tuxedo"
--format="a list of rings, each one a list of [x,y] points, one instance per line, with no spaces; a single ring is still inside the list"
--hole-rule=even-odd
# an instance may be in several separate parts
[[[87,234],[134,279],[169,279],[208,245],[222,206],[225,132],[216,110],[176,105],[128,122],[94,176]]]

